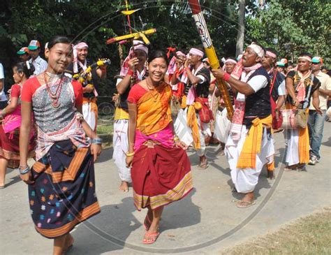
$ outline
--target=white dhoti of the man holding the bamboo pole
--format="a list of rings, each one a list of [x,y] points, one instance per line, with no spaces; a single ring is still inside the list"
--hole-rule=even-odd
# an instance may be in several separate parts
[[[271,136],[267,134],[267,129],[263,128],[261,150],[256,155],[256,168],[237,168],[237,161],[242,152],[248,131],[246,126],[242,126],[240,140],[238,141],[234,141],[230,135],[226,141],[226,148],[224,150],[230,165],[231,178],[233,184],[235,184],[235,189],[239,193],[244,194],[255,189],[263,166],[266,163],[272,162],[272,156],[274,155],[274,144],[272,143]]]

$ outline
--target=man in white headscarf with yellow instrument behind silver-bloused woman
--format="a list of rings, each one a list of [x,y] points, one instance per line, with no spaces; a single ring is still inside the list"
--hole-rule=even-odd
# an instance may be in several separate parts
[[[73,46],[73,63],[70,64],[66,70],[66,75],[79,75],[87,70],[93,62],[87,58],[89,53],[89,45],[80,42]],[[82,115],[84,120],[89,124],[92,130],[96,131],[98,123],[98,105],[96,104],[96,97],[98,96],[98,87],[96,83],[96,76],[101,79],[106,78],[106,66],[98,66],[92,69],[91,79],[86,79],[82,84],[83,87],[83,103]]]

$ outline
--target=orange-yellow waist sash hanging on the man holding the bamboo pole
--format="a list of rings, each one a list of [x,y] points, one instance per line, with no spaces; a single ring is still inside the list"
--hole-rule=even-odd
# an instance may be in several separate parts
[[[237,168],[256,168],[256,155],[260,153],[262,145],[263,125],[271,128],[272,115],[263,119],[253,119],[237,162]]]

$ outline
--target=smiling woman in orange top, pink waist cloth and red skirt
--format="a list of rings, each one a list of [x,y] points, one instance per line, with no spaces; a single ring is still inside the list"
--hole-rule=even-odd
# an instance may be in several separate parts
[[[138,210],[148,208],[144,244],[159,237],[164,205],[184,198],[192,190],[191,164],[172,126],[172,91],[165,83],[168,59],[156,50],[148,56],[149,76],[128,94],[128,152],[133,198]]]

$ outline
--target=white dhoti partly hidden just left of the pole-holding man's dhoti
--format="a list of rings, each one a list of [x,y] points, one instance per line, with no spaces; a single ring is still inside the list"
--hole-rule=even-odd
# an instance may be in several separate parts
[[[230,120],[228,120],[228,111],[224,108],[222,111],[217,110],[215,119],[214,138],[221,143],[226,143],[230,131]]]

